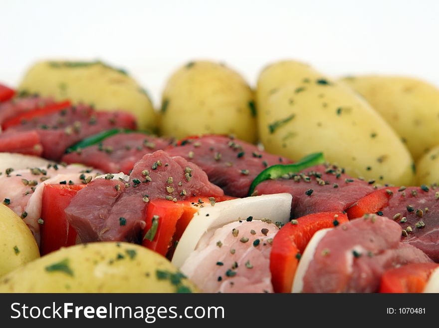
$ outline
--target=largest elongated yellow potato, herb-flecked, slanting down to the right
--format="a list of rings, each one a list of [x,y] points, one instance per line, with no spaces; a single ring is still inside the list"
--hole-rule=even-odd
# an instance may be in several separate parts
[[[413,183],[413,160],[398,135],[343,83],[282,61],[262,71],[256,98],[259,136],[269,152],[298,160],[322,151],[353,176]]]

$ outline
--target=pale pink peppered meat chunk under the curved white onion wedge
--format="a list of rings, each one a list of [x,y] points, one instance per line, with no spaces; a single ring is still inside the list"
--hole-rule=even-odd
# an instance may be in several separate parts
[[[181,271],[205,293],[272,293],[272,223],[235,221],[208,231]]]

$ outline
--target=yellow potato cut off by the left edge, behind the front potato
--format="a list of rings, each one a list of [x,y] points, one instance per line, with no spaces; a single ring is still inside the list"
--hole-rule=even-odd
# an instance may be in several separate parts
[[[37,258],[38,246],[29,228],[0,203],[0,277]]]

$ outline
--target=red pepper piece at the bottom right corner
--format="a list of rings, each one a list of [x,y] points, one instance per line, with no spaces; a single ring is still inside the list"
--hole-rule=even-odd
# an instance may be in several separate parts
[[[437,263],[412,263],[386,271],[380,293],[422,293]]]

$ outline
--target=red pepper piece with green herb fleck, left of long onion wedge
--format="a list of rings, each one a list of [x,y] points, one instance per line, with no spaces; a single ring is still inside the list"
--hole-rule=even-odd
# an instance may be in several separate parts
[[[216,202],[230,199],[234,197],[215,197]],[[146,212],[142,245],[171,259],[176,243],[182,237],[194,214],[204,203],[210,203],[209,197],[195,197],[178,202],[164,199],[150,201]],[[158,216],[157,222],[154,223],[155,227],[153,227],[154,216]],[[153,236],[151,237],[151,232],[149,236],[146,236],[152,227]]]

